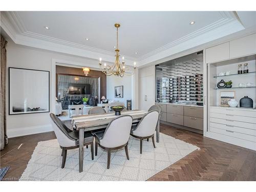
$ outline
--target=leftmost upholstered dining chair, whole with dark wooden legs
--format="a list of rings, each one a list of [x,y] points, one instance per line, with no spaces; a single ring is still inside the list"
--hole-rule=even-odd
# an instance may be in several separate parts
[[[67,150],[79,147],[79,132],[71,131],[56,115],[50,114],[52,119],[53,131],[57,137],[60,148],[62,149],[62,164],[61,168],[64,168],[67,158]],[[93,150],[93,135],[89,132],[84,132],[84,145],[91,145],[92,160],[94,159]]]

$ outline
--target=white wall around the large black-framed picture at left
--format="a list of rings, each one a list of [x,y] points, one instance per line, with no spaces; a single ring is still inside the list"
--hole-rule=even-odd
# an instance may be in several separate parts
[[[6,83],[6,106],[7,106],[7,135],[8,137],[29,135],[35,133],[42,133],[51,131],[51,123],[49,113],[38,114],[22,114],[22,115],[8,115],[9,114],[9,82],[8,82],[8,68],[27,68],[50,71],[50,95],[52,93],[52,84],[55,80],[52,79],[52,59],[70,61],[74,63],[84,63],[84,66],[98,66],[96,60],[71,56],[68,54],[60,54],[53,51],[46,51],[42,49],[30,48],[26,46],[16,45],[9,40],[7,45],[7,83]],[[126,87],[126,86],[125,86]],[[131,89],[131,87],[130,87]],[[126,92],[126,91],[125,91]],[[50,111],[55,110],[52,106],[52,97],[50,97]]]

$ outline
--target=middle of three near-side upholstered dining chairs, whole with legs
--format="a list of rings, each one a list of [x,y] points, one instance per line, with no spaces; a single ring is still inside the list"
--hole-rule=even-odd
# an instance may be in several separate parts
[[[106,168],[110,168],[112,150],[124,147],[126,158],[129,160],[127,145],[130,137],[132,121],[132,116],[122,115],[113,119],[106,127],[105,131],[95,133],[95,156],[97,156],[98,153],[98,145],[108,151],[108,165]]]

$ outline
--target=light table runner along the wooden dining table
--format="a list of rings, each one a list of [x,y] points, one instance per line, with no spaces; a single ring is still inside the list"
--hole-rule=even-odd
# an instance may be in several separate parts
[[[146,111],[124,111],[121,113],[122,115],[140,115],[140,114],[145,114],[147,112]],[[109,118],[115,118],[115,117],[118,117],[115,115],[115,113],[74,117],[72,118],[72,125],[75,126],[75,123],[77,122],[94,121],[99,119],[109,119]]]

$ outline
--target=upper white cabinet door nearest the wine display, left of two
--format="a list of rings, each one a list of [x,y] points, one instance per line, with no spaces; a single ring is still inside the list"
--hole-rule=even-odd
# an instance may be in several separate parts
[[[229,59],[229,42],[225,42],[224,44],[207,48],[205,51],[206,63]]]

